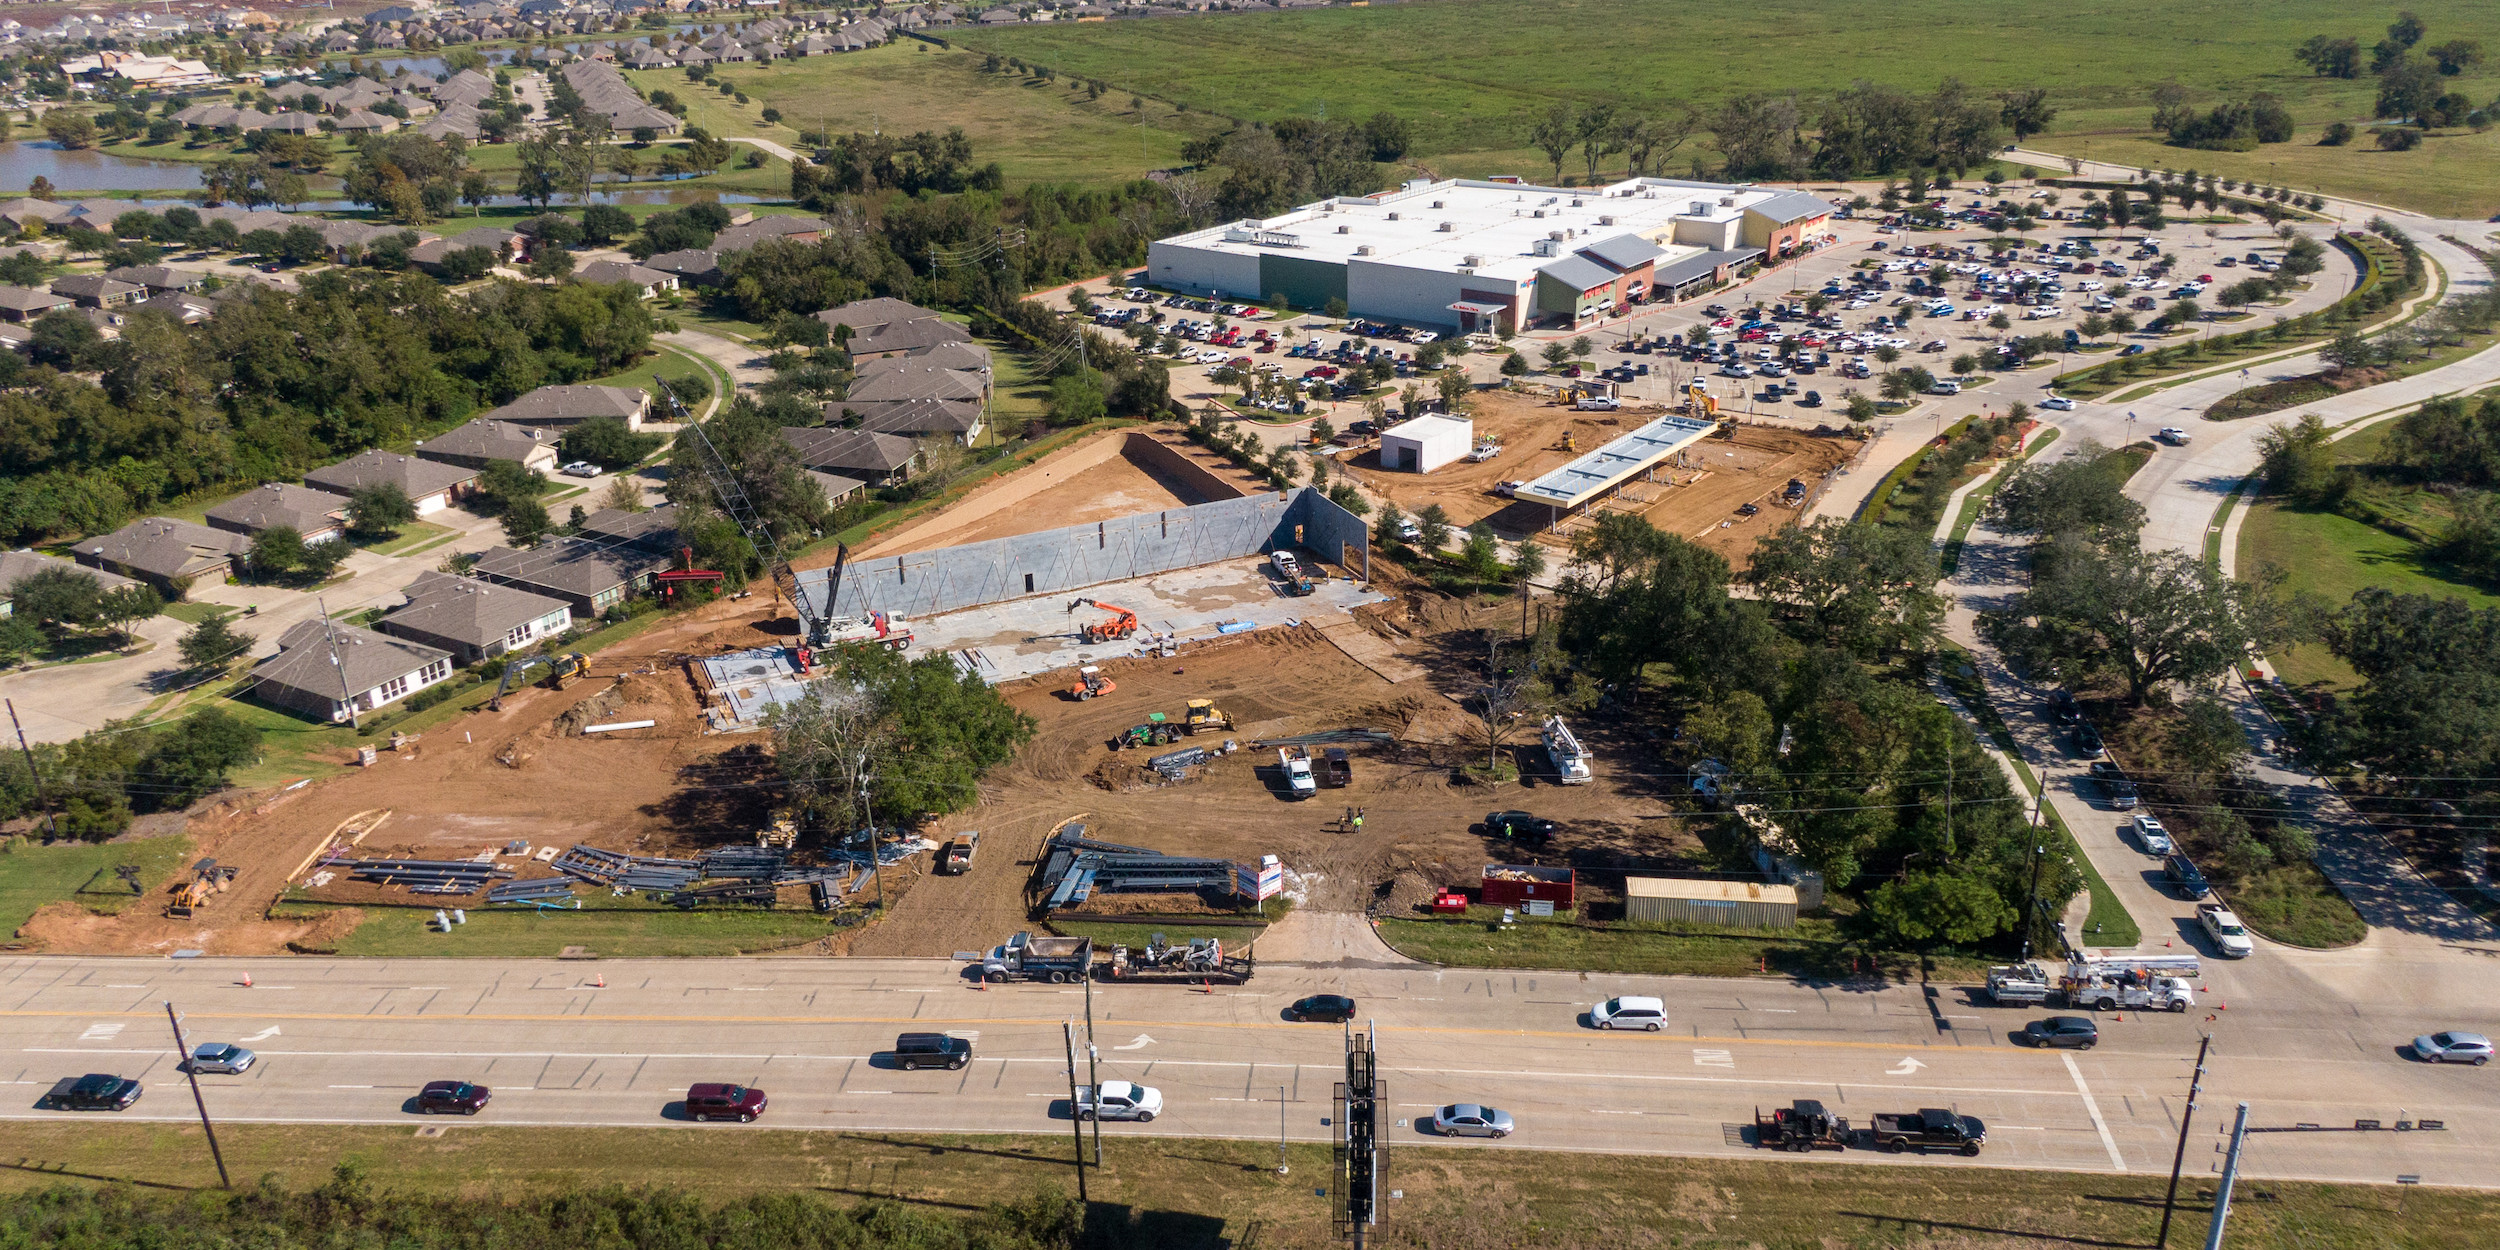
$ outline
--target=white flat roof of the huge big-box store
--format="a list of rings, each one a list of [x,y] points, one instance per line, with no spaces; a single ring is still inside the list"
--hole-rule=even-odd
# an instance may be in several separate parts
[[[1380,195],[1342,195],[1268,220],[1225,222],[1162,240],[1225,255],[1290,255],[1318,262],[1375,262],[1420,270],[1472,268],[1492,280],[1528,282],[1578,248],[1640,235],[1665,248],[1660,265],[1702,248],[1672,242],[1675,220],[1728,220],[1772,205],[1788,215],[1798,192],[1675,178],[1630,178],[1605,188],[1528,182],[1408,182]],[[1722,202],[1732,200],[1732,202]],[[1552,235],[1560,232],[1560,240]],[[1545,240],[1552,255],[1538,255]],[[1475,265],[1468,260],[1475,258]]]

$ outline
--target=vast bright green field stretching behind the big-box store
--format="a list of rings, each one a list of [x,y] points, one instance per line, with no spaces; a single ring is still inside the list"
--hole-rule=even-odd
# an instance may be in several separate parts
[[[2410,5],[2430,28],[2425,45],[2482,38],[2490,8],[2462,0]],[[1765,0],[1758,5],[1658,5],[1645,0],[1412,0],[1380,8],[1245,12],[1152,22],[1045,22],[948,32],[978,52],[1015,55],[1060,75],[1110,82],[1125,108],[1138,90],[1232,118],[1368,118],[1390,110],[1415,128],[1415,150],[1432,172],[1538,172],[1545,155],[1528,145],[1530,125],[1555,102],[1615,100],[1638,112],[1672,115],[1740,92],[1800,95],[1812,128],[1815,100],[1868,78],[1930,92],[1945,75],[1988,95],[2048,88],[2062,110],[2052,150],[2068,135],[2100,145],[2092,155],[2148,165],[2225,170],[2352,195],[2420,200],[2465,210],[2500,200],[2500,162],[2480,160],[2490,138],[2435,138],[2418,152],[2315,148],[2330,120],[2368,120],[2375,82],[2308,75],[2292,48],[2310,35],[2350,35],[2368,48],[2395,10],[2352,10],[2328,0],[2178,0],[2158,12],[2118,0]],[[1598,62],[1592,42],[1638,55]],[[835,58],[845,60],[845,58]],[[2142,142],[2165,158],[2110,148],[2135,138],[2162,80],[2190,88],[2198,108],[2255,90],[2280,95],[2308,138],[2258,152],[2195,152]],[[2500,70],[2450,80],[2480,100],[2500,92]],[[1110,100],[1110,95],[1105,95]],[[948,102],[952,105],[952,102]],[[785,105],[788,108],[788,105]],[[1688,170],[1710,155],[1695,135],[1670,160]],[[1602,168],[1622,172],[1622,158]],[[1585,172],[1578,152],[1565,172]],[[2488,188],[2488,190],[2478,190]]]

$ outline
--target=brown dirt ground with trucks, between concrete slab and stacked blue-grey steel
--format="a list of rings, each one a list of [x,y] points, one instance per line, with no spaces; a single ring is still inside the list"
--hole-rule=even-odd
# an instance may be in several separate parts
[[[1278,855],[1300,878],[1305,905],[1322,910],[1375,902],[1408,910],[1428,902],[1432,885],[1472,885],[1495,860],[1622,868],[1670,865],[1695,850],[1695,840],[1662,815],[1670,782],[1660,778],[1655,748],[1595,720],[1580,728],[1600,755],[1592,785],[1540,780],[1542,752],[1525,732],[1512,732],[1505,752],[1520,760],[1528,782],[1500,790],[1460,782],[1458,768],[1482,760],[1482,728],[1438,682],[1462,685],[1480,648],[1472,625],[1500,628],[1515,620],[1515,608],[1470,612],[1455,600],[1422,598],[1390,618],[1422,642],[1412,655],[1425,660],[1430,678],[1392,685],[1302,628],[1242,635],[1182,660],[1102,665],[1120,690],[1092,702],[1070,700],[1062,682],[1005,688],[1010,702],[1040,720],[1040,735],[988,778],[980,808],[945,822],[945,832],[982,830],[980,862],[965,878],[918,882],[852,952],[950,955],[1028,925],[1025,888],[1042,838],[1078,815],[1098,838],[1172,855]],[[1110,750],[1118,730],[1148,712],[1178,718],[1190,698],[1212,698],[1235,730],[1185,745],[1338,728],[1378,728],[1398,742],[1358,748],[1352,785],[1302,802],[1282,798],[1272,750],[1220,758],[1180,785],[1152,785],[1152,772],[1135,768],[1138,752]],[[1360,835],[1338,832],[1345,808],[1362,808]],[[1482,818],[1500,808],[1560,820],[1565,832],[1540,855],[1525,855],[1485,838]],[[1135,908],[1110,900],[1088,910],[1118,918]],[[1155,898],[1148,908],[1195,910],[1195,900]]]

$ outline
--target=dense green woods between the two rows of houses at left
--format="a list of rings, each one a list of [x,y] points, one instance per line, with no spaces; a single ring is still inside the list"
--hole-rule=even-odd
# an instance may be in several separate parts
[[[550,382],[610,375],[650,348],[640,292],[325,270],[250,290],[185,328],[138,310],[105,342],[85,318],[0,352],[0,535],[102,532],[185,495],[292,480],[408,445]]]

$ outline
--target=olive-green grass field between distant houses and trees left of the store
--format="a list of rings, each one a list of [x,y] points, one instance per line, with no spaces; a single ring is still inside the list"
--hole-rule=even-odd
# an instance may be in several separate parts
[[[918,40],[795,58],[772,68],[730,65],[722,78],[752,100],[735,112],[755,120],[722,128],[720,135],[765,135],[795,145],[800,130],[820,128],[835,135],[910,135],[960,125],[972,140],[972,160],[998,160],[1008,182],[1112,182],[1180,165],[1182,142],[1222,125],[1220,118],[1175,112],[1158,100],[1130,108],[1128,90],[1088,100],[1065,78],[1042,82],[982,72],[980,65],[978,52],[938,50]],[[628,78],[638,88],[665,88],[690,102],[725,102],[710,88],[688,82],[680,70]],[[782,122],[762,125],[765,108],[778,108]]]

